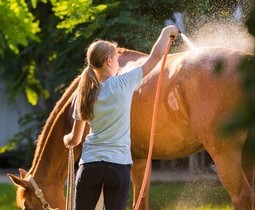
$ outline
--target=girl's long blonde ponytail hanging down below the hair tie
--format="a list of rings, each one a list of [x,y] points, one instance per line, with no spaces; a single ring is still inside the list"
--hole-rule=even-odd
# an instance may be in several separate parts
[[[100,90],[100,83],[91,65],[81,74],[78,86],[77,109],[80,119],[90,121],[94,117],[94,103]]]

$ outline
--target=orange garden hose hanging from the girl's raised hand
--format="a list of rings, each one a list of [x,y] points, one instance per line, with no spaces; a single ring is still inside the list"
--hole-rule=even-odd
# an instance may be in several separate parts
[[[151,166],[152,149],[153,149],[154,137],[155,137],[155,128],[156,128],[156,118],[157,118],[157,112],[158,112],[159,94],[160,94],[160,88],[161,88],[161,83],[162,83],[162,75],[163,75],[163,71],[164,71],[164,68],[165,68],[166,58],[167,58],[168,51],[169,51],[169,48],[171,46],[171,43],[172,43],[172,40],[171,40],[171,37],[170,37],[168,42],[167,42],[167,46],[166,46],[166,49],[165,49],[165,54],[164,54],[161,69],[160,69],[160,72],[159,72],[157,88],[156,88],[156,95],[155,95],[155,101],[154,101],[154,106],[153,106],[153,113],[152,113],[150,145],[149,145],[148,157],[147,157],[147,162],[146,162],[146,168],[145,168],[145,171],[144,171],[142,186],[141,186],[141,189],[140,189],[140,192],[139,192],[134,210],[138,210],[138,208],[141,204],[143,193],[144,193],[144,190],[145,190],[145,187],[146,187],[146,182],[147,182],[147,179],[148,179],[148,176],[149,176],[149,171],[150,171],[150,166]]]

